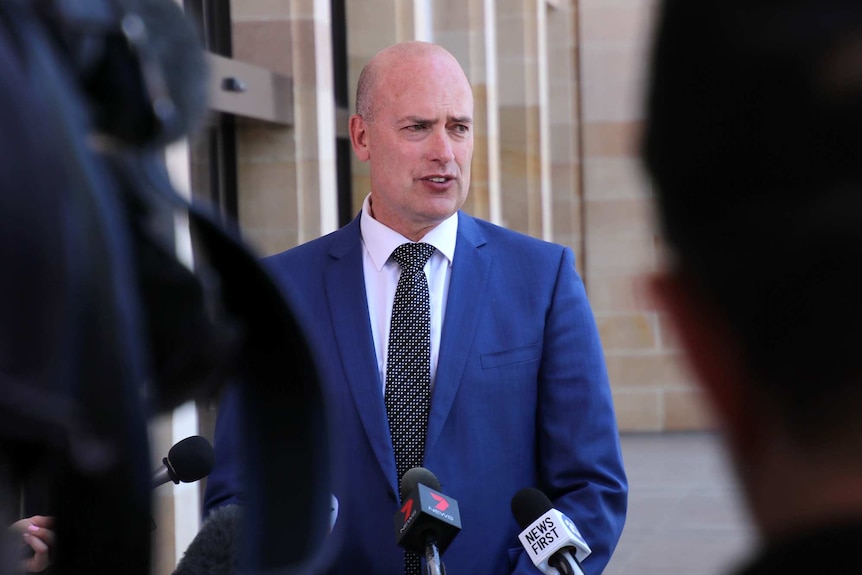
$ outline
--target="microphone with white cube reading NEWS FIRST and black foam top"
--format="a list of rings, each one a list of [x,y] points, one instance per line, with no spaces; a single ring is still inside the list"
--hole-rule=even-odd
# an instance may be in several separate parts
[[[537,569],[545,575],[584,575],[580,562],[592,550],[547,495],[534,487],[520,490],[512,498],[512,514],[522,529],[518,539]]]

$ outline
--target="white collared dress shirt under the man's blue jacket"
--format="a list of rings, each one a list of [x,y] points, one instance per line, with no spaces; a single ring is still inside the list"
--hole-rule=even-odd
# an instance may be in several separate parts
[[[377,353],[377,369],[386,391],[386,352],[389,347],[389,324],[392,321],[392,302],[401,268],[390,256],[395,248],[410,240],[381,224],[371,215],[370,197],[362,202],[359,227],[362,233],[362,268],[365,273],[365,293],[368,297],[368,315]],[[437,358],[440,355],[440,333],[446,315],[446,297],[455,258],[455,239],[458,234],[458,214],[452,214],[428,232],[422,242],[431,244],[437,251],[425,264],[428,278],[428,295],[431,302],[431,386],[437,375]]]

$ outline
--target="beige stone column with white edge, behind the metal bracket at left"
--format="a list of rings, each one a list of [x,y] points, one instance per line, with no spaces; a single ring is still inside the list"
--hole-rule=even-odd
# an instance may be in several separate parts
[[[262,254],[337,226],[328,0],[232,4],[234,58],[293,79],[295,125],[238,121],[239,223]]]

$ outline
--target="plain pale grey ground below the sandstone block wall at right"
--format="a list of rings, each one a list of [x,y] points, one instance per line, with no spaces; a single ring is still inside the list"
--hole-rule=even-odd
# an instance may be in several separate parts
[[[715,434],[625,434],[629,511],[604,575],[722,575],[753,530]]]

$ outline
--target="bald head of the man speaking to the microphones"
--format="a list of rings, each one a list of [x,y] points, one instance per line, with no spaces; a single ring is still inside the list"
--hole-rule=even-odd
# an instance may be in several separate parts
[[[455,214],[470,189],[473,90],[452,54],[390,46],[359,79],[350,140],[368,162],[371,216],[413,241]]]

